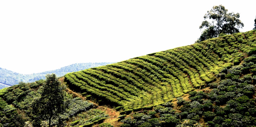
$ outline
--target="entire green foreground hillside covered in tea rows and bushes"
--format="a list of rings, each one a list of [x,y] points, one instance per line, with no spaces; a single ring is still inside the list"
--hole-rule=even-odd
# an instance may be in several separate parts
[[[55,125],[255,127],[255,72],[256,30],[68,73],[61,78],[68,93],[121,116],[80,110],[94,108],[76,98]],[[0,125],[31,125],[29,102],[43,82],[0,90]]]

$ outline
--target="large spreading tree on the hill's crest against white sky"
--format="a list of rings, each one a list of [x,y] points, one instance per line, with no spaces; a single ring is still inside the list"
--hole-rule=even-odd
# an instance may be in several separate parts
[[[215,38],[220,34],[238,33],[239,28],[244,26],[239,17],[239,13],[228,13],[228,10],[222,5],[214,6],[205,14],[205,21],[202,21],[199,27],[199,29],[204,29],[204,31],[196,42]]]

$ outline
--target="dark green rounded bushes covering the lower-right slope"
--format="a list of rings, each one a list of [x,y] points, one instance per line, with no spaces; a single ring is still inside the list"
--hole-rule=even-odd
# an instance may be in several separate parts
[[[256,54],[240,65],[223,68],[225,77],[207,84],[206,89],[189,92],[189,99],[177,98],[177,107],[162,104],[151,111],[136,112],[123,118],[128,126],[254,126],[256,125],[255,74]],[[244,69],[247,68],[247,69]],[[231,75],[231,76],[230,76]],[[182,103],[181,103],[182,102]]]

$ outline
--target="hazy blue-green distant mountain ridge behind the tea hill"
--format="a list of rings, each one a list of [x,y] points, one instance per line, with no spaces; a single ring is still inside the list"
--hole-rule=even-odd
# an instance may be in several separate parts
[[[70,72],[77,72],[88,68],[104,66],[115,62],[102,62],[102,63],[76,63],[69,66],[61,67],[57,70],[45,71],[34,74],[20,74],[4,68],[0,68],[0,89],[12,85],[16,85],[19,82],[35,82],[40,79],[45,79],[46,74],[55,73],[57,76],[63,76]],[[8,86],[6,86],[8,85]]]

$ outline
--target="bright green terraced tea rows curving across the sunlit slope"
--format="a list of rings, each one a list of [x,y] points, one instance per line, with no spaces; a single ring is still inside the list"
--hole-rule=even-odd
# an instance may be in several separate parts
[[[256,48],[256,30],[68,73],[70,89],[124,111],[152,109],[219,80]]]

